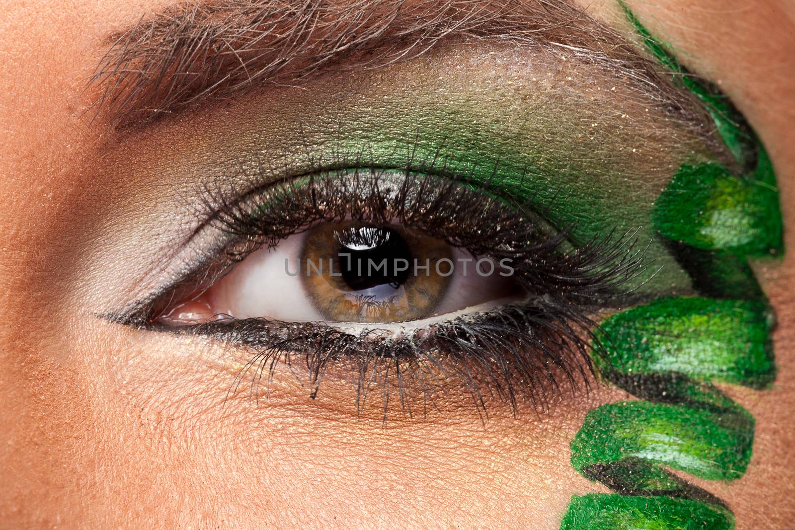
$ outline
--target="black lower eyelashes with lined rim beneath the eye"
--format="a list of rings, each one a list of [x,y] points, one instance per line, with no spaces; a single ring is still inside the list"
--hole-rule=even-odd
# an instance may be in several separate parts
[[[341,373],[339,364],[347,365],[345,373],[355,375],[359,407],[377,389],[386,421],[390,395],[410,415],[448,393],[452,381],[484,415],[493,400],[509,404],[514,413],[524,402],[547,412],[564,392],[561,376],[572,392],[589,388],[594,327],[580,308],[536,300],[458,316],[397,337],[376,327],[353,334],[325,323],[267,319],[208,322],[180,331],[254,352],[232,391],[250,378],[256,395],[263,377],[267,385],[279,366],[289,366],[298,377],[305,373],[301,382],[316,397],[324,377]],[[383,392],[386,388],[392,391]]]

